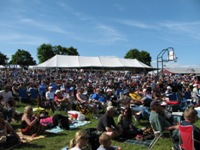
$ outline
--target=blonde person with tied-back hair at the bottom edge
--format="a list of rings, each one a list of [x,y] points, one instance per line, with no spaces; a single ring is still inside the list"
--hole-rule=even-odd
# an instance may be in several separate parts
[[[77,131],[75,137],[70,140],[70,150],[83,150],[88,145],[89,135],[86,130]],[[90,150],[91,148],[87,148]]]

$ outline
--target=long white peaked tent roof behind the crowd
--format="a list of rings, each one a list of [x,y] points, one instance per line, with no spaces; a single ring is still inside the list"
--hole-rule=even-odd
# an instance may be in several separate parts
[[[140,68],[153,69],[137,59],[55,55],[34,68]]]

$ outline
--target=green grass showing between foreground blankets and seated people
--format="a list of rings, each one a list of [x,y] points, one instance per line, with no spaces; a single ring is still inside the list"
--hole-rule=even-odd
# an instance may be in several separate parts
[[[20,112],[23,112],[24,106],[27,104],[18,103],[17,104],[17,110]],[[34,107],[34,106],[33,106]],[[64,112],[55,112],[55,113],[62,113]],[[21,144],[20,146],[16,147],[15,150],[60,150],[65,146],[69,145],[69,141],[74,137],[74,134],[80,130],[90,127],[96,127],[98,120],[89,118],[91,123],[80,127],[78,129],[74,130],[66,130],[58,134],[46,134],[46,137],[43,139],[34,140],[30,143]],[[116,119],[116,118],[115,118]],[[141,122],[135,122],[137,127],[143,127],[147,124],[147,121],[141,121]],[[199,122],[197,124],[200,124]],[[20,128],[20,122],[12,123],[13,127],[15,129]],[[117,141],[112,141],[112,145],[121,146],[123,150],[145,150],[147,147],[145,146],[139,146],[139,145],[133,145],[133,144],[127,144]],[[172,147],[172,144],[169,139],[161,139],[158,141],[158,143],[154,146],[153,150],[170,150]]]

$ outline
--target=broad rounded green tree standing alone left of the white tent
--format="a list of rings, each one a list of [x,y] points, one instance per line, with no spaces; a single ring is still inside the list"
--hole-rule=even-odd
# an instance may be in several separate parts
[[[21,67],[28,67],[29,65],[36,65],[36,61],[33,60],[31,54],[22,49],[18,49],[17,52],[12,55],[10,64],[20,65]]]

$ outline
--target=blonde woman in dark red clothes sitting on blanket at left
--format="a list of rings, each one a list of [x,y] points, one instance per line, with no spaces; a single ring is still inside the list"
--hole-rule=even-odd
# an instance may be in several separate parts
[[[39,117],[33,114],[33,108],[31,106],[26,106],[21,119],[22,134],[35,137],[43,134],[44,130],[45,128],[39,122]]]

